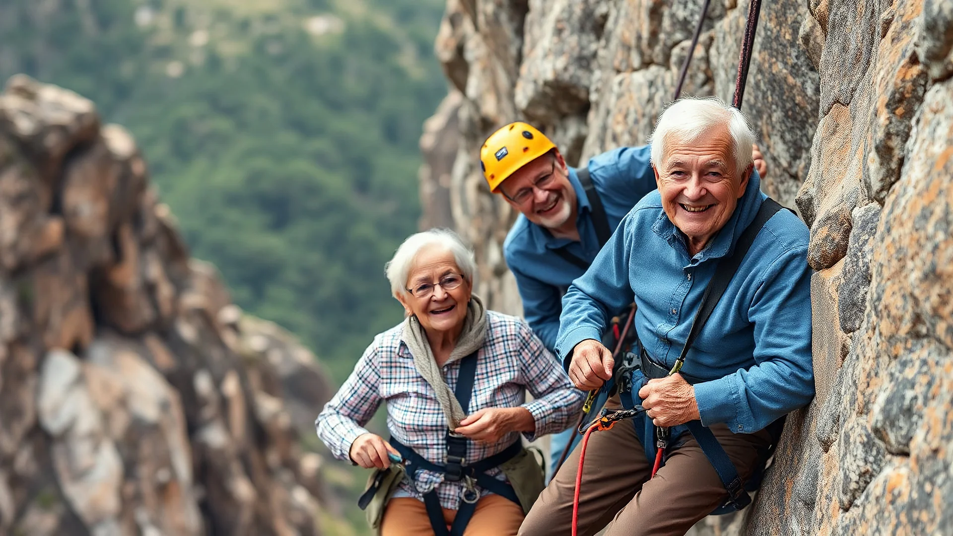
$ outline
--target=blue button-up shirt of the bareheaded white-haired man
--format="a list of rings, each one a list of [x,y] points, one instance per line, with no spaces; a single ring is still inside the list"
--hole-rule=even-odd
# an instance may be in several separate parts
[[[635,327],[653,360],[675,364],[719,258],[729,255],[758,213],[755,172],[734,214],[697,255],[665,216],[659,192],[619,225],[562,299],[557,354],[599,340],[607,311],[635,299]],[[741,262],[682,367],[695,385],[701,423],[755,432],[814,396],[808,230],[789,211],[772,217]],[[639,401],[640,402],[640,401]]]

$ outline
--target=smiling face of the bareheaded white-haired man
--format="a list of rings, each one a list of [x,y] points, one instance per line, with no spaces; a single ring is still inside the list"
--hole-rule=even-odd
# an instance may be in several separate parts
[[[719,127],[691,143],[672,140],[654,166],[665,215],[688,237],[693,256],[728,222],[748,185],[751,168],[736,169],[733,148],[727,127]]]

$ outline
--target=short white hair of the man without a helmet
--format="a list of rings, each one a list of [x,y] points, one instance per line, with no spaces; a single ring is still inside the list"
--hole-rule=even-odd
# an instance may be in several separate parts
[[[715,96],[679,98],[659,115],[655,132],[649,138],[652,163],[659,168],[671,142],[692,143],[718,127],[728,128],[735,145],[735,164],[738,173],[743,173],[753,162],[755,132],[740,110]]]

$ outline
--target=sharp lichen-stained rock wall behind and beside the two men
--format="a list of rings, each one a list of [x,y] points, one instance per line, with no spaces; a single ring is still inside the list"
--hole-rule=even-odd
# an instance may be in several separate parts
[[[500,253],[515,215],[485,186],[483,139],[529,120],[571,164],[644,143],[701,4],[448,0],[451,207],[490,308],[520,312]],[[684,93],[730,101],[747,10],[711,3]],[[696,533],[953,533],[951,75],[948,0],[763,4],[744,111],[765,192],[811,228],[817,397],[789,416],[755,504]]]

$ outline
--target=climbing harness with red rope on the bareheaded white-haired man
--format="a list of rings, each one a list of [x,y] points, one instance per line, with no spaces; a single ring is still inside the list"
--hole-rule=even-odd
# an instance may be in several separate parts
[[[681,348],[679,358],[675,362],[674,366],[672,366],[671,369],[668,369],[662,365],[659,365],[655,361],[651,360],[644,348],[640,349],[640,362],[638,368],[639,372],[644,378],[648,380],[665,378],[667,376],[676,374],[681,370],[681,366],[685,362],[685,357],[688,355],[688,350],[692,347],[696,338],[699,336],[701,329],[704,327],[705,322],[708,321],[712,311],[715,310],[715,306],[718,304],[721,296],[724,294],[725,289],[727,289],[731,279],[734,278],[735,273],[738,271],[738,267],[740,266],[741,260],[745,257],[748,249],[751,247],[751,244],[755,241],[755,237],[757,237],[760,233],[761,227],[763,227],[764,223],[766,223],[768,219],[777,214],[781,208],[781,205],[777,201],[770,197],[766,198],[761,203],[758,214],[755,216],[754,220],[741,233],[738,242],[735,244],[734,253],[730,257],[720,259],[718,266],[715,269],[715,275],[712,276],[708,286],[705,287],[705,291],[701,297],[699,309],[695,314],[694,320],[692,320],[692,326],[689,330],[688,338],[685,340],[685,344]],[[694,378],[687,374],[682,374],[682,378],[684,378],[685,381],[693,384],[700,381],[700,379]],[[630,412],[624,414],[625,417],[622,417],[622,419],[636,417],[643,411],[641,406],[634,405],[637,397],[636,393],[637,390],[635,385],[632,385],[628,392],[619,392],[619,400],[622,402],[623,407],[625,407],[625,409],[622,411],[628,410]],[[630,407],[626,407],[627,405]],[[586,429],[586,437],[583,438],[583,447],[579,452],[579,472],[576,475],[577,496],[578,486],[582,482],[581,468],[582,459],[585,457],[585,445],[587,443],[586,439],[588,439],[588,436],[593,431],[609,429],[612,427],[612,425],[617,423],[618,420],[620,420],[615,419],[612,416],[613,414],[603,415],[598,420],[590,423],[589,427]],[[603,419],[607,419],[607,421],[603,422]],[[720,515],[734,510],[740,510],[746,505],[749,505],[751,503],[751,497],[747,492],[757,489],[757,487],[752,489],[752,485],[760,484],[760,474],[763,471],[763,464],[766,463],[767,459],[773,453],[775,445],[778,443],[777,439],[780,437],[780,431],[783,427],[783,418],[769,425],[768,431],[772,437],[772,444],[765,449],[765,452],[760,453],[759,467],[755,471],[755,476],[752,479],[749,479],[748,483],[745,483],[741,480],[735,464],[733,464],[731,459],[728,458],[727,453],[725,453],[724,449],[721,447],[718,439],[708,427],[702,425],[700,421],[690,421],[685,423],[685,426],[688,428],[688,431],[692,434],[692,436],[695,437],[695,440],[699,443],[701,451],[715,468],[715,471],[719,475],[721,484],[724,485],[725,490],[728,492],[728,498],[725,500],[724,504],[716,508],[713,512],[711,512],[711,514]],[[637,433],[639,433],[638,426]],[[644,444],[646,438],[641,437],[641,439],[642,443]],[[652,468],[652,477],[655,477],[656,472],[658,472],[659,467],[662,464],[663,453],[668,447],[668,429],[656,427],[656,440],[656,456],[655,464]],[[745,484],[748,485],[746,486]],[[573,510],[574,534],[576,534],[577,510],[578,501],[577,505],[574,505]]]

